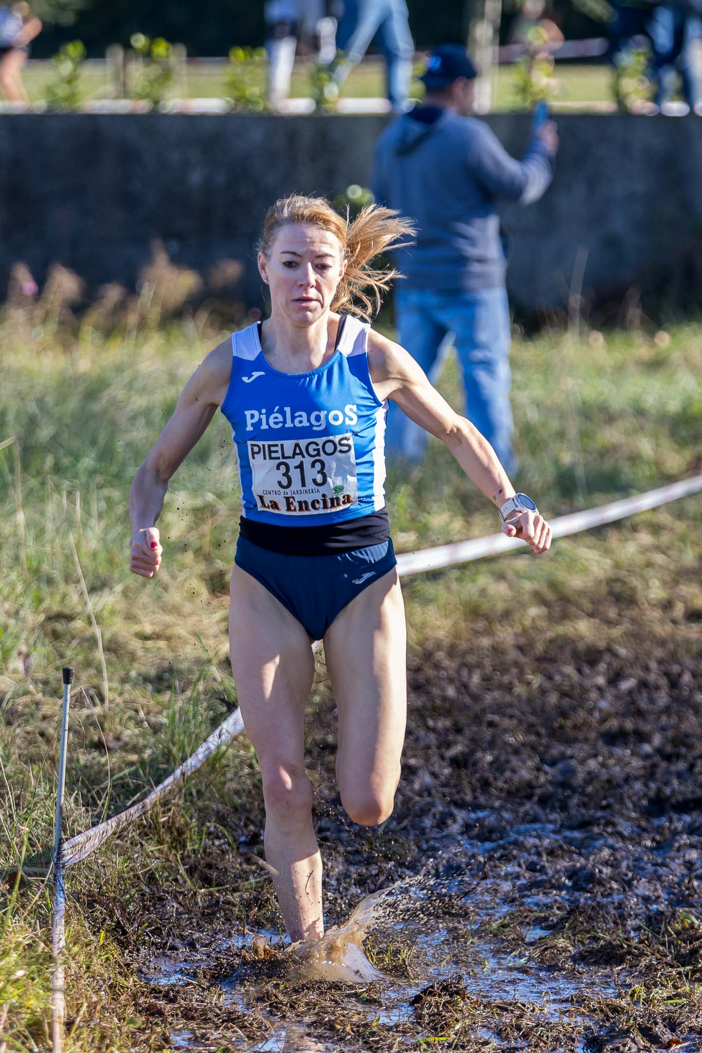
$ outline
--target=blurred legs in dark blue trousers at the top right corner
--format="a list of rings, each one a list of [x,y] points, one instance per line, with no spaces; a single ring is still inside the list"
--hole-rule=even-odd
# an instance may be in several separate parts
[[[702,36],[701,14],[702,0],[679,0],[661,4],[651,15],[654,101],[664,113],[665,103],[675,98],[680,74],[683,100],[690,113],[702,117],[702,77],[695,56],[696,42]]]

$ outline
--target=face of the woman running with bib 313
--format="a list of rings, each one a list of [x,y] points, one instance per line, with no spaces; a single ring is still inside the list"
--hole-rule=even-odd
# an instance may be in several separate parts
[[[341,242],[330,231],[300,223],[282,226],[269,257],[259,253],[261,277],[270,286],[274,313],[309,325],[332,306],[346,270]]]

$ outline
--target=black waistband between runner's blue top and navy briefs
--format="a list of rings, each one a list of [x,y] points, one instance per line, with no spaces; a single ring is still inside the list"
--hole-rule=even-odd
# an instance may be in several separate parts
[[[239,533],[259,549],[284,556],[326,556],[330,552],[350,552],[381,544],[390,536],[390,525],[387,509],[381,509],[347,522],[321,526],[278,526],[242,517]]]

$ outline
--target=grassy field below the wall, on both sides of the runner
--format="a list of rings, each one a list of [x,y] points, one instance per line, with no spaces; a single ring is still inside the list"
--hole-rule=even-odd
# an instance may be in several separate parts
[[[49,317],[29,322],[8,313],[0,322],[0,443],[16,438],[0,449],[0,1005],[7,1050],[47,1045],[45,874],[61,665],[76,668],[68,833],[160,781],[236,699],[226,619],[239,494],[219,415],[172,481],[159,522],[160,575],[144,581],[127,570],[134,472],[217,339],[192,324],[103,337],[87,325],[67,333]],[[653,331],[615,332],[604,342],[562,333],[518,338],[513,365],[522,465],[516,481],[546,515],[700,470],[699,325],[671,327],[667,343]],[[452,363],[441,388],[460,405]],[[498,529],[492,506],[434,440],[410,477],[390,474],[388,505],[399,551]],[[609,604],[614,641],[634,611],[651,637],[673,634],[676,645],[691,648],[697,630],[685,613],[702,611],[701,526],[702,502],[691,497],[559,541],[540,560],[520,554],[417,576],[404,590],[410,647],[460,641],[478,623],[587,637],[601,632],[596,614]],[[101,634],[108,698],[80,573]],[[621,617],[618,596],[626,597]],[[134,1022],[140,981],[120,965],[121,918],[145,883],[186,879],[179,853],[204,836],[193,802],[237,808],[242,778],[258,779],[245,740],[206,766],[183,802],[164,806],[71,872],[69,1051],[162,1048],[156,1031]]]

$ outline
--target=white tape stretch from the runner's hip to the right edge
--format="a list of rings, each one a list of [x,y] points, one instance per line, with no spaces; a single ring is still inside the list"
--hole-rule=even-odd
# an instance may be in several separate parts
[[[637,494],[636,497],[625,497],[621,501],[600,504],[597,509],[587,509],[585,512],[573,512],[568,516],[559,516],[557,519],[549,519],[548,522],[554,531],[554,537],[567,537],[569,534],[578,534],[580,531],[601,526],[603,523],[610,523],[616,519],[624,519],[635,512],[646,512],[648,509],[659,508],[661,504],[676,501],[680,497],[686,497],[700,490],[702,490],[702,475],[696,475],[691,479],[683,479],[681,482],[673,482],[668,486],[660,486],[658,490],[649,490],[645,494]],[[456,544],[441,544],[436,549],[424,549],[421,552],[402,553],[398,556],[398,573],[403,577],[405,574],[436,571],[440,567],[467,563],[469,560],[480,559],[482,556],[497,556],[510,549],[523,548],[524,542],[517,538],[507,537],[506,534],[490,534],[489,537],[477,537],[473,541],[457,541]]]

